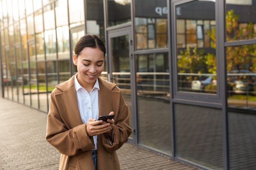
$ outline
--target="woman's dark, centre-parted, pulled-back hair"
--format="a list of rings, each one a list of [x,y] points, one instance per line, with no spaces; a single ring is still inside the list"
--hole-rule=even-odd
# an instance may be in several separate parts
[[[96,35],[92,35],[92,34],[83,35],[83,37],[81,37],[78,40],[78,42],[76,42],[76,46],[74,49],[74,53],[76,57],[79,56],[79,54],[85,47],[92,47],[92,48],[99,47],[99,49],[104,53],[104,56],[106,55],[106,47],[104,45],[104,42],[101,39],[99,39],[99,37],[97,37]]]

